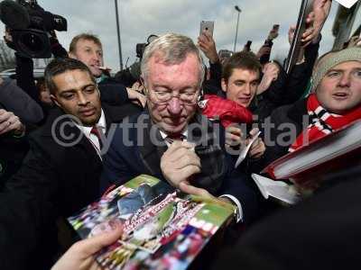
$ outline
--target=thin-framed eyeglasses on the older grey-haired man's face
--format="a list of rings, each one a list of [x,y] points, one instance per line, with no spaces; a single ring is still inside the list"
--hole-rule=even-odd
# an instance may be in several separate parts
[[[173,97],[179,98],[180,103],[185,105],[194,105],[198,102],[199,91],[196,92],[184,92],[180,94],[173,94],[165,91],[146,91],[149,100],[154,104],[167,104]]]

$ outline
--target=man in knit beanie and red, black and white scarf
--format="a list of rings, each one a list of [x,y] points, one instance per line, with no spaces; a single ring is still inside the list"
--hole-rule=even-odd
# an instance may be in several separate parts
[[[266,151],[262,166],[301,148],[303,141],[318,139],[361,119],[360,59],[361,48],[357,47],[329,52],[319,58],[312,75],[313,93],[278,108],[270,121],[264,123]]]

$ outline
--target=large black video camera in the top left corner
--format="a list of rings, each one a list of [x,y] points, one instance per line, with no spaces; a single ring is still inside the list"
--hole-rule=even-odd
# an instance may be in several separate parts
[[[36,0],[4,0],[0,19],[10,32],[10,47],[28,58],[51,58],[51,31],[67,31],[67,20],[45,11]]]

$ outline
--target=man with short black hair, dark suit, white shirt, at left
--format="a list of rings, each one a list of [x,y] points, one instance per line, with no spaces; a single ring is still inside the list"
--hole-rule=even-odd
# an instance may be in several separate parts
[[[23,166],[0,194],[7,206],[0,211],[1,269],[34,262],[36,269],[49,269],[57,248],[55,221],[98,199],[99,135],[127,112],[126,106],[101,105],[95,79],[79,60],[53,60],[45,80],[58,109],[32,133]]]

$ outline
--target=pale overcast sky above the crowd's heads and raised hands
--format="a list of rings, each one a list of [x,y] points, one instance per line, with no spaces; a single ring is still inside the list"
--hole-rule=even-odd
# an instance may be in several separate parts
[[[81,32],[97,34],[104,47],[106,66],[119,69],[114,0],[38,0],[46,10],[68,20],[68,31],[58,37],[68,49],[71,38]],[[135,44],[145,42],[149,34],[173,31],[197,40],[199,22],[215,21],[214,39],[217,49],[233,49],[236,32],[237,4],[241,9],[237,49],[246,40],[253,40],[256,52],[263,44],[273,23],[281,24],[280,36],[273,45],[273,57],[287,55],[287,31],[297,22],[301,0],[118,0],[121,24],[123,62],[128,66],[135,60]],[[331,49],[331,29],[338,4],[334,1],[329,19],[324,26],[321,52]]]

